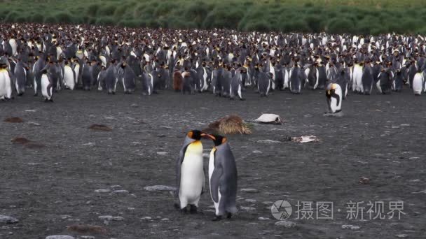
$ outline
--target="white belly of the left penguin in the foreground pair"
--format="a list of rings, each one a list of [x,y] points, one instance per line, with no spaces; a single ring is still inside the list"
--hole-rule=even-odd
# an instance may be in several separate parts
[[[191,146],[188,146],[191,147]],[[198,206],[202,187],[205,184],[203,161],[201,153],[186,153],[181,164],[181,182],[179,201],[181,208],[188,204]]]

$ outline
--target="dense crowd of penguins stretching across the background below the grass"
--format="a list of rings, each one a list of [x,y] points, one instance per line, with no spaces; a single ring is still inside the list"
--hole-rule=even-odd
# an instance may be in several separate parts
[[[226,29],[128,29],[91,25],[1,24],[0,99],[29,87],[51,101],[62,89],[115,94],[142,85],[183,94],[213,92],[244,99],[277,89],[298,94],[326,89],[348,92],[426,91],[423,36],[383,34],[279,34]],[[142,83],[142,84],[141,84]],[[406,87],[408,88],[408,87]]]

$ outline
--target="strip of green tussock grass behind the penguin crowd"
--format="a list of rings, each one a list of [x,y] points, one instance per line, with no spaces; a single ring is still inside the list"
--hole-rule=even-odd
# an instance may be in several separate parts
[[[127,27],[426,34],[423,0],[13,0],[0,20]]]

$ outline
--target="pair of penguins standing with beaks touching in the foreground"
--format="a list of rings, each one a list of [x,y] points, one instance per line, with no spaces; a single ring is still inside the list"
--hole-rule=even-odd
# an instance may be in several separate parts
[[[219,135],[210,135],[198,130],[186,134],[184,145],[177,159],[177,193],[179,203],[174,207],[186,212],[197,212],[198,202],[205,186],[205,171],[202,158],[201,138],[213,140],[214,147],[209,157],[210,196],[215,208],[213,221],[219,221],[226,215],[231,218],[237,212],[237,166],[228,145],[228,140]]]

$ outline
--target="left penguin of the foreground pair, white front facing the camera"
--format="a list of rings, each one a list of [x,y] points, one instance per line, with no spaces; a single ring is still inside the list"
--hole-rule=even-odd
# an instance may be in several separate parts
[[[204,163],[202,161],[201,138],[205,136],[198,130],[186,134],[176,165],[177,198],[175,207],[186,212],[190,205],[191,212],[196,212],[198,201],[205,186]]]

